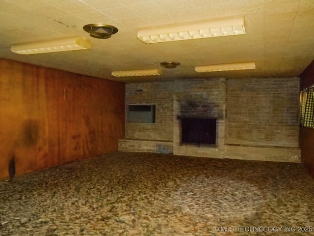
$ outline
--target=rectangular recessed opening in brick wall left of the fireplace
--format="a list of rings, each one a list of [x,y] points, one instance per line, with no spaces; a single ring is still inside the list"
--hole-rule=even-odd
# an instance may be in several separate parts
[[[128,122],[155,123],[156,105],[129,105]]]

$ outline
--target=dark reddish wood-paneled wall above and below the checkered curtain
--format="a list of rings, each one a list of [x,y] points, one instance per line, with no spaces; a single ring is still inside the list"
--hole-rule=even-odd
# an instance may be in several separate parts
[[[305,89],[314,84],[314,60],[301,74],[300,89]],[[301,161],[314,177],[314,129],[300,128]]]

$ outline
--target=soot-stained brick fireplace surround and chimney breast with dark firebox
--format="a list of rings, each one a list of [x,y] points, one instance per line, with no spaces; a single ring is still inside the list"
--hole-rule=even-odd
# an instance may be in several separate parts
[[[204,84],[197,89],[186,90],[173,95],[173,149],[175,154],[223,158],[226,95],[225,79],[204,81]],[[215,136],[214,145],[203,142],[182,142],[184,120],[190,121],[189,124],[192,127],[199,129],[201,133],[198,135],[207,136],[205,129],[209,127],[197,127],[200,125],[198,121],[204,124],[206,120],[212,119],[215,120],[215,130],[211,130],[211,133],[215,132],[211,135],[211,138]]]

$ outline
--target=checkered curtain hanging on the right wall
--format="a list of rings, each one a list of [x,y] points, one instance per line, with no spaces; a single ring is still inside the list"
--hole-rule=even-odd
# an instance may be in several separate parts
[[[314,86],[301,91],[300,105],[301,125],[314,128]]]

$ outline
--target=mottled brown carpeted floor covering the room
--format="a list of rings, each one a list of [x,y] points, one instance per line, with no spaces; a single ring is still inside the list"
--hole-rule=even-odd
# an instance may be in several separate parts
[[[112,152],[0,181],[0,236],[314,235],[295,163]]]

